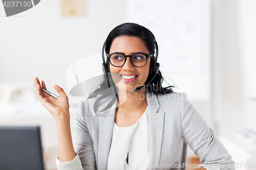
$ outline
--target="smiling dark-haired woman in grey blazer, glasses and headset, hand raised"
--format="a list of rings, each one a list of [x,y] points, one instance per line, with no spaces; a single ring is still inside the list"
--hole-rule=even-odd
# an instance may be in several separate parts
[[[55,117],[58,169],[183,170],[189,166],[187,144],[200,157],[198,168],[234,169],[231,156],[186,93],[162,87],[150,30],[123,23],[104,45],[106,74],[100,87],[80,103],[73,141],[67,95],[55,85],[60,98],[53,99],[42,92],[45,83],[41,87],[35,79],[38,99]]]

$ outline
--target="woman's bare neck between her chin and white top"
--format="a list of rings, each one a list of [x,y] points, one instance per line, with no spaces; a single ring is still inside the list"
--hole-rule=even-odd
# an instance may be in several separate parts
[[[119,109],[127,112],[137,112],[141,108],[147,106],[146,89],[142,88],[140,91],[122,91],[118,90],[118,104]],[[131,107],[132,106],[132,107]]]

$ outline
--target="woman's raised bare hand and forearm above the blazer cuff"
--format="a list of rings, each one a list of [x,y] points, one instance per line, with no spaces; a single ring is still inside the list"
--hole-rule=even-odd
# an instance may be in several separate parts
[[[76,153],[74,151],[70,130],[68,96],[62,88],[55,84],[54,88],[60,95],[59,99],[55,99],[53,96],[42,91],[42,88],[46,89],[44,81],[42,81],[42,85],[40,85],[39,79],[35,78],[34,83],[37,98],[55,118],[58,134],[58,159],[61,162],[71,161],[75,158]]]

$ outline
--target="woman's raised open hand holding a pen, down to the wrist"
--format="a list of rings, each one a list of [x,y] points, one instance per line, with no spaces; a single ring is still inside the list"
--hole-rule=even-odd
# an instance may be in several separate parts
[[[63,114],[65,116],[67,115],[69,116],[69,100],[68,100],[68,96],[66,95],[66,93],[63,91],[62,88],[60,88],[56,84],[54,85],[55,90],[60,95],[59,99],[55,99],[53,98],[53,96],[42,91],[42,88],[47,90],[46,84],[44,81],[41,81],[41,85],[40,85],[40,81],[36,77],[34,79],[34,84],[35,84],[37,98],[42,103],[42,105],[54,116],[55,119]]]

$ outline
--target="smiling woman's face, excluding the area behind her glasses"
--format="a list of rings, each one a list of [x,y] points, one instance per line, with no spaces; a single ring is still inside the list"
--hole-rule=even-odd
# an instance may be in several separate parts
[[[138,37],[120,36],[113,40],[111,53],[123,53],[124,55],[132,55],[133,53],[141,52],[150,54],[146,48],[145,42]],[[142,67],[135,67],[130,61],[130,57],[127,57],[126,62],[121,67],[115,67],[110,64],[110,71],[113,81],[119,90],[122,91],[134,91],[134,88],[142,86],[148,77],[150,70],[150,58]],[[124,77],[123,77],[124,76]],[[125,76],[136,76],[134,79],[130,77],[127,79]],[[123,78],[122,78],[123,77]]]

